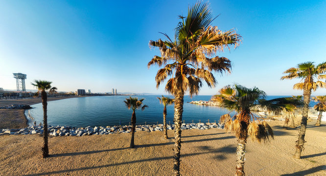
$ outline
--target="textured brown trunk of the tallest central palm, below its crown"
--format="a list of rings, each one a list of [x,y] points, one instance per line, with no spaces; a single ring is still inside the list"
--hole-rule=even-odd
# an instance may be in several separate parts
[[[176,93],[174,102],[174,176],[180,176],[181,124],[182,112],[184,111],[184,94],[183,91]]]

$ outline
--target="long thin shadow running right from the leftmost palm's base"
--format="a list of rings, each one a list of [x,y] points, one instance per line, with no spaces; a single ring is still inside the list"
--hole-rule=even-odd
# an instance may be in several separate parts
[[[225,137],[215,137],[215,138],[208,138],[208,139],[187,140],[187,141],[182,141],[182,143],[204,142],[204,141],[232,139],[232,138],[235,138],[235,137],[234,136],[225,136]],[[135,145],[135,148],[157,147],[157,146],[165,146],[165,145],[172,145],[172,144],[174,144],[174,142],[157,143],[157,144],[142,144],[142,145]],[[112,152],[112,151],[119,151],[119,150],[125,150],[125,149],[130,149],[130,148],[125,147],[125,148],[99,150],[99,151],[84,151],[84,152],[72,152],[72,153],[63,153],[63,154],[50,154],[49,157],[97,154],[97,153],[102,153],[102,152]]]

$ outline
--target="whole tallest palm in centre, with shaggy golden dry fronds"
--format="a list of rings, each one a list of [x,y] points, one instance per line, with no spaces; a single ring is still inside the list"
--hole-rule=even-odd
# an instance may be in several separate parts
[[[216,53],[238,46],[241,36],[235,31],[223,32],[217,26],[211,26],[214,18],[211,15],[208,3],[197,2],[189,6],[186,17],[179,16],[181,22],[175,29],[174,40],[166,34],[167,40],[150,41],[150,47],[158,47],[160,56],[154,56],[148,63],[148,68],[153,65],[163,67],[158,70],[155,81],[156,87],[167,80],[165,90],[175,97],[174,124],[174,175],[180,176],[180,150],[181,150],[181,124],[184,105],[184,95],[190,97],[198,94],[205,81],[209,87],[214,88],[216,79],[211,71],[223,73],[231,72],[231,61],[225,57],[218,57]],[[212,58],[208,58],[212,57]]]

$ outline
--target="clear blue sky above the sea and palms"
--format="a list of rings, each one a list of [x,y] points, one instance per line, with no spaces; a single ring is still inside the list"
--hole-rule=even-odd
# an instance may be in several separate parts
[[[16,89],[12,73],[52,81],[59,91],[148,92],[156,89],[158,67],[147,69],[157,50],[150,40],[173,36],[178,15],[195,0],[0,0],[0,87]],[[297,95],[300,80],[280,81],[298,63],[326,61],[326,1],[211,0],[212,23],[237,29],[238,48],[218,53],[233,62],[231,75],[216,75],[218,85],[204,85],[212,95],[225,85],[258,87],[269,95]],[[324,80],[325,81],[325,80]],[[314,94],[326,94],[326,89]]]

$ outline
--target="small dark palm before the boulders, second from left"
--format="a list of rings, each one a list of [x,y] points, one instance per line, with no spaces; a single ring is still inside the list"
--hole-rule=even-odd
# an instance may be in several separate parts
[[[131,141],[130,141],[130,148],[135,148],[135,143],[134,143],[134,136],[135,136],[135,129],[136,129],[136,113],[135,111],[140,109],[145,110],[147,105],[143,105],[142,101],[144,101],[144,98],[138,100],[137,97],[132,98],[126,98],[125,101],[123,101],[126,104],[126,107],[128,110],[133,110],[133,114],[131,116]],[[142,106],[143,105],[143,106]]]

